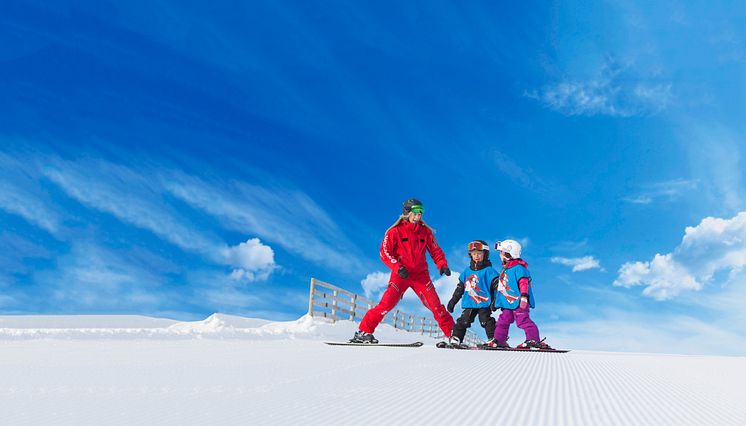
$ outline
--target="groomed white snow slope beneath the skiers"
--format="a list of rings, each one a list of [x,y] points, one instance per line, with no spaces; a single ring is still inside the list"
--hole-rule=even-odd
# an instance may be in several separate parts
[[[746,424],[746,358],[324,345],[356,324],[0,317],[0,424]],[[64,326],[63,326],[64,325]]]

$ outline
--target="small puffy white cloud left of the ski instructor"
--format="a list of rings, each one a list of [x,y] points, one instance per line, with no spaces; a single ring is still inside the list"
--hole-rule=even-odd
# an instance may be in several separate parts
[[[230,277],[234,280],[263,281],[276,268],[275,253],[258,238],[222,250],[226,262],[234,266]]]

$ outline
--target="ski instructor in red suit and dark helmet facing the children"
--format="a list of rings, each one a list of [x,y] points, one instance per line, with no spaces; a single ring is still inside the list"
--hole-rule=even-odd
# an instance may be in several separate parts
[[[391,269],[389,285],[378,305],[369,310],[360,322],[360,329],[350,339],[352,343],[378,343],[373,332],[383,317],[399,303],[408,288],[417,293],[422,303],[433,312],[435,321],[446,337],[451,335],[453,318],[440,303],[430,273],[427,270],[425,250],[440,271],[440,275],[451,275],[448,262],[433,230],[423,220],[425,208],[422,203],[410,198],[403,204],[402,215],[386,231],[381,243],[381,260]]]

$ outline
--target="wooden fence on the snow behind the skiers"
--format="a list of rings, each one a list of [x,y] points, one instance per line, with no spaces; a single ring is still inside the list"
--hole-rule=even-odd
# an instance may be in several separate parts
[[[314,317],[329,318],[332,321],[349,320],[359,322],[366,312],[376,305],[370,299],[357,295],[343,288],[311,278],[311,291],[308,300],[308,314]],[[400,310],[386,314],[382,324],[394,328],[420,333],[435,338],[443,338],[443,332],[433,318],[417,317]],[[476,333],[466,331],[465,343],[475,345],[483,343]]]

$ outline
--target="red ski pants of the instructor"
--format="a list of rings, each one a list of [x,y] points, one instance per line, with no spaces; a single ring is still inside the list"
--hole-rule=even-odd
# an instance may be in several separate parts
[[[435,291],[435,286],[433,286],[433,282],[430,280],[427,272],[410,275],[408,278],[402,278],[395,272],[392,272],[389,278],[389,287],[383,293],[381,301],[365,314],[363,320],[360,322],[360,330],[366,333],[373,333],[378,324],[383,321],[383,317],[399,303],[399,300],[404,296],[404,292],[410,287],[425,307],[432,311],[435,321],[438,322],[438,326],[443,330],[443,334],[450,336],[453,330],[453,317],[446,311],[445,306],[440,303],[438,293]]]

